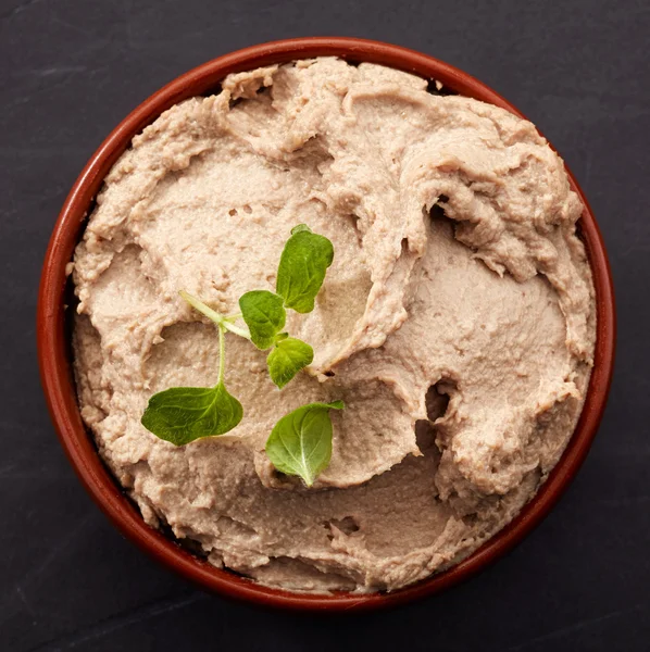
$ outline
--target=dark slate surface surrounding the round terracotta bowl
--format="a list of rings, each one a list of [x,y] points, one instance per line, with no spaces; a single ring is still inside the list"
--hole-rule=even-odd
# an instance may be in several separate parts
[[[0,650],[650,649],[647,0],[0,0]],[[605,418],[547,521],[461,587],[351,617],[207,595],[125,541],[60,450],[35,353],[50,229],[102,138],[190,67],[310,35],[430,53],[538,124],[596,212],[620,319]]]

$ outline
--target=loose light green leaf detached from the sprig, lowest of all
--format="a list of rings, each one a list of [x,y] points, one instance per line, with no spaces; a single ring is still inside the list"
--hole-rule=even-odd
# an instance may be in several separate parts
[[[332,459],[329,410],[342,410],[342,401],[310,403],[283,416],[266,440],[266,454],[282,473],[300,476],[308,487]]]

